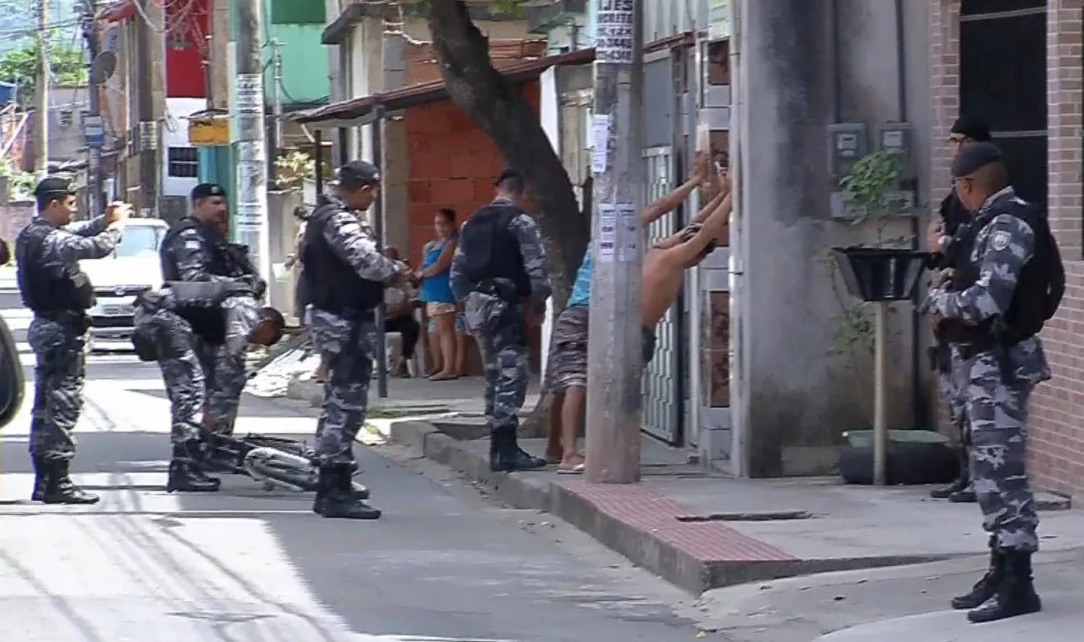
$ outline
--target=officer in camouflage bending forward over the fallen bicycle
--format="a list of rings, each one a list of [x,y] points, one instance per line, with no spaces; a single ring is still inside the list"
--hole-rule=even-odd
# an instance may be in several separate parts
[[[203,409],[206,382],[196,354],[198,341],[227,354],[244,354],[249,343],[273,345],[285,320],[260,308],[251,286],[228,282],[167,282],[136,301],[132,344],[140,359],[157,361],[170,405],[172,458],[166,491],[214,492],[220,480],[196,462],[204,459]]]

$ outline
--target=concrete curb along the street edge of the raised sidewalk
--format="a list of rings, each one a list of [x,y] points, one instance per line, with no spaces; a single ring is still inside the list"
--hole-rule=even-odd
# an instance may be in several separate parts
[[[643,523],[634,524],[611,514],[605,502],[597,499],[593,501],[589,497],[591,492],[583,492],[577,488],[577,485],[582,483],[550,480],[530,473],[494,473],[489,470],[486,458],[465,448],[457,439],[441,433],[433,424],[417,421],[396,422],[391,424],[390,438],[416,454],[444,464],[466,475],[472,482],[485,485],[492,495],[513,509],[545,511],[568,522],[599,543],[621,553],[634,564],[694,594],[752,581],[836,570],[940,562],[964,556],[930,554],[799,560],[724,525],[708,523],[705,527],[724,529],[721,532],[731,540],[730,544],[745,553],[744,558],[721,560],[702,552],[697,554],[693,550],[694,545],[683,545],[685,542],[674,538],[668,541],[660,535],[666,528],[653,528]],[[668,500],[659,498],[657,501],[661,508],[662,502]],[[660,526],[664,525],[660,523]]]

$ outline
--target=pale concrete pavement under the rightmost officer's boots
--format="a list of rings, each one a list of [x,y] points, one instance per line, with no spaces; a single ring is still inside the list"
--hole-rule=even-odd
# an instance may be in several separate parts
[[[701,628],[731,642],[1042,642],[1079,640],[1084,551],[1034,558],[1041,613],[970,625],[949,601],[970,589],[986,558],[795,577],[714,589],[695,605]]]

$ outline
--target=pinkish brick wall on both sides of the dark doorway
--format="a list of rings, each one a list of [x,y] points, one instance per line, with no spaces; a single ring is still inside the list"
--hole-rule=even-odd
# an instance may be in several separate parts
[[[945,140],[959,112],[959,0],[930,10],[930,108],[933,124],[930,202],[949,189]],[[1041,488],[1084,491],[1084,248],[1082,248],[1082,99],[1084,0],[1047,2],[1047,153],[1050,227],[1061,246],[1068,286],[1043,331],[1054,378],[1030,403],[1029,471]],[[942,422],[944,422],[942,409]]]

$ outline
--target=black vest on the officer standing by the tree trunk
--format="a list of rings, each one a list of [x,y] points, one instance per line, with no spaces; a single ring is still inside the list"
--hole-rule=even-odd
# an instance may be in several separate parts
[[[516,296],[530,296],[531,280],[524,269],[519,240],[511,229],[520,214],[512,205],[487,205],[463,226],[460,249],[466,258],[464,274],[475,287],[501,279],[513,284]]]

